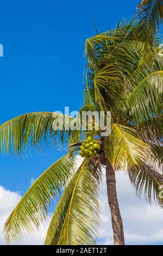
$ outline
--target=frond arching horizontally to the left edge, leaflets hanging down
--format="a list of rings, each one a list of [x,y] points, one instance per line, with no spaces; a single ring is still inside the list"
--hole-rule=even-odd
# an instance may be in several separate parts
[[[3,154],[18,154],[29,147],[42,146],[42,141],[47,143],[51,139],[55,145],[68,143],[71,134],[70,129],[54,130],[53,125],[57,122],[64,127],[74,121],[73,117],[53,112],[34,112],[20,115],[7,121],[0,126],[0,143]],[[73,132],[78,133],[80,131]]]

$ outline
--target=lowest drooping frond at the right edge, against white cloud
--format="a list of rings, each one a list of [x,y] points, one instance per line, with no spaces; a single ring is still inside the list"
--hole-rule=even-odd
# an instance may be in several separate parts
[[[128,175],[139,196],[144,194],[147,202],[151,204],[154,200],[163,207],[163,200],[159,196],[159,187],[163,185],[163,175],[158,172],[155,166],[143,164],[137,170],[130,169]]]

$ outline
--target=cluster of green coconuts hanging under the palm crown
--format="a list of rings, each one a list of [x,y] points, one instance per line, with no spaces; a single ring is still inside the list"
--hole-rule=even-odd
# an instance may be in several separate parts
[[[87,139],[80,146],[79,155],[82,157],[95,156],[100,150],[100,145],[97,143],[97,139],[87,137]]]

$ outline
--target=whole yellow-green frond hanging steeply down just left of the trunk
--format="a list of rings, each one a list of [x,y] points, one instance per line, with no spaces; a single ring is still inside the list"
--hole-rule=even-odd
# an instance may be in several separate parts
[[[55,209],[46,244],[93,245],[98,228],[100,172],[86,160],[67,185]],[[68,204],[67,204],[68,203]]]

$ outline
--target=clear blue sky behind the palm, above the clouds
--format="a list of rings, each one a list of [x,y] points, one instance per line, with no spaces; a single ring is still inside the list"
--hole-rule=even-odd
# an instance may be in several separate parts
[[[92,19],[99,33],[104,32],[123,17],[129,19],[139,2],[1,1],[0,43],[4,57],[0,58],[0,123],[34,111],[64,111],[65,106],[71,111],[78,110],[83,99],[84,43],[96,34]],[[23,194],[30,180],[62,154],[51,148],[44,155],[33,153],[32,157],[0,156],[0,185]],[[17,194],[15,197],[18,198]],[[126,203],[122,202],[123,210]],[[128,243],[139,241],[134,237]]]

